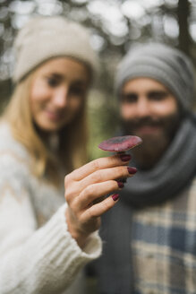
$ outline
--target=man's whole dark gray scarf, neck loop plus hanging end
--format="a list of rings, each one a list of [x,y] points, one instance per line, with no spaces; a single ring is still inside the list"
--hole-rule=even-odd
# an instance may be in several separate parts
[[[158,165],[127,181],[120,201],[102,218],[103,255],[98,261],[101,294],[131,294],[132,209],[162,203],[176,197],[196,175],[196,118],[183,120],[174,141]]]

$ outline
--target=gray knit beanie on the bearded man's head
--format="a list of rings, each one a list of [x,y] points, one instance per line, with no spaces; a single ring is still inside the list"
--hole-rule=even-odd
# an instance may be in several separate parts
[[[118,67],[115,83],[118,94],[124,82],[137,77],[149,77],[161,82],[183,108],[191,108],[194,71],[191,61],[180,50],[160,43],[141,44],[132,48]]]

